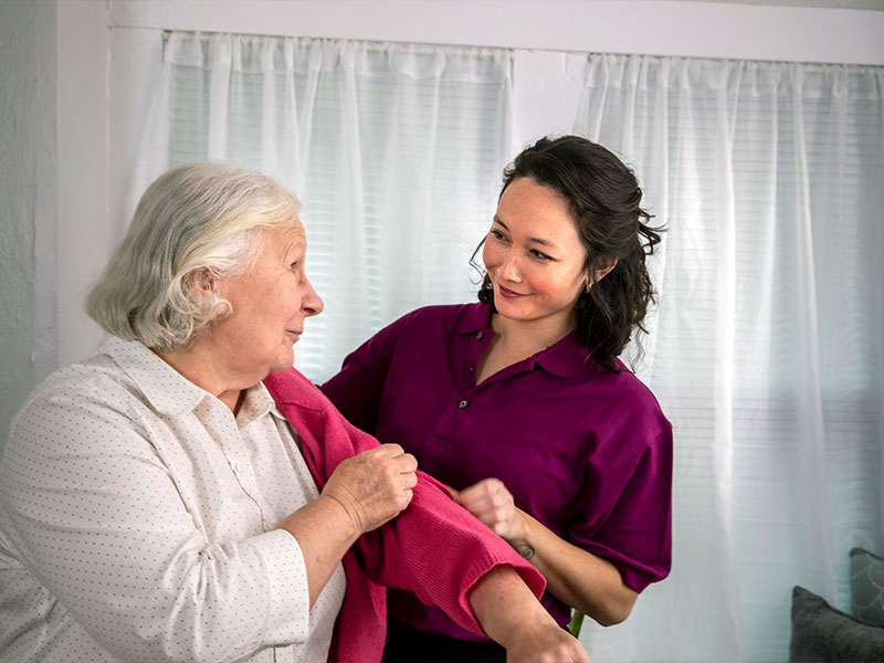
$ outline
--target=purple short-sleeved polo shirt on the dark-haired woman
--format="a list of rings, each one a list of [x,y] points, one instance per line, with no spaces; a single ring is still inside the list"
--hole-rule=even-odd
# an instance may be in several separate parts
[[[671,560],[672,425],[628,370],[596,365],[576,333],[475,383],[494,332],[484,304],[430,306],[379,332],[322,389],[352,423],[455,488],[491,476],[516,506],[603,557],[636,591]],[[621,366],[622,368],[622,366]],[[549,592],[559,624],[570,609]],[[390,612],[466,640],[441,610],[391,590]]]

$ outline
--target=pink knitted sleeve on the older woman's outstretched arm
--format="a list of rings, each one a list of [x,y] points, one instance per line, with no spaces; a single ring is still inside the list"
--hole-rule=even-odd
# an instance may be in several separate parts
[[[294,369],[264,383],[298,432],[307,465],[322,490],[338,463],[379,442],[350,424]],[[514,568],[536,597],[546,580],[501,537],[455,504],[422,472],[411,504],[382,527],[361,536],[356,551],[373,582],[413,591],[473,632],[482,629],[467,599],[478,579],[501,565]]]

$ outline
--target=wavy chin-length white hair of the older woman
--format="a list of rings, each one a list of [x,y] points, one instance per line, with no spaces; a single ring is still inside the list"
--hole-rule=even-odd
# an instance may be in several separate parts
[[[280,182],[229,164],[169,170],[141,196],[86,313],[120,338],[186,348],[230,312],[221,297],[194,297],[193,278],[248,272],[266,231],[293,228],[301,207]]]

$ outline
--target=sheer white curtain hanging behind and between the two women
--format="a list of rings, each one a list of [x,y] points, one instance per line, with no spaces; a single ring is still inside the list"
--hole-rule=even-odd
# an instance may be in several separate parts
[[[508,51],[166,34],[131,204],[166,168],[255,168],[304,201],[325,301],[296,361],[320,381],[381,325],[473,298],[509,155]]]

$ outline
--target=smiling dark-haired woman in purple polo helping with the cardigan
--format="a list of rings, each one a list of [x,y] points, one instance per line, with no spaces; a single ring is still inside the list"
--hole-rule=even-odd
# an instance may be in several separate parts
[[[640,203],[606,148],[538,140],[504,171],[480,303],[406,315],[323,386],[530,559],[561,625],[623,621],[670,570],[672,427],[618,359],[653,298]],[[505,660],[414,594],[389,606],[386,661]]]

